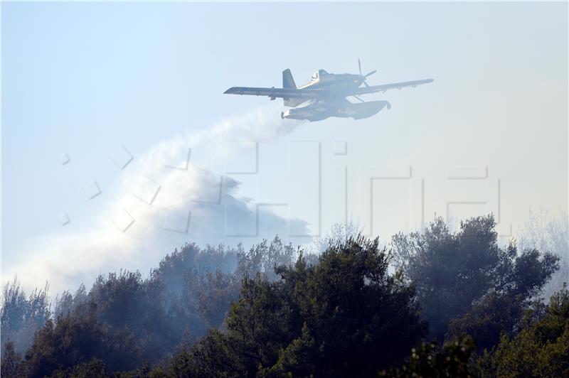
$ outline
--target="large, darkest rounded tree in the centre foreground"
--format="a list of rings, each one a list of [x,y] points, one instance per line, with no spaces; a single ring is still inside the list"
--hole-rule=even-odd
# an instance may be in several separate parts
[[[372,376],[426,332],[413,287],[388,266],[377,239],[358,237],[330,246],[317,265],[301,254],[276,270],[279,281],[244,276],[228,333],[208,334],[178,361],[196,376]]]

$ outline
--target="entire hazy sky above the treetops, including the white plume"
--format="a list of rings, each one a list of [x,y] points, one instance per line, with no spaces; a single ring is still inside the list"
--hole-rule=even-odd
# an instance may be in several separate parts
[[[2,282],[58,291],[346,216],[386,239],[494,212],[507,237],[567,210],[566,3],[1,6]],[[358,58],[370,85],[435,82],[359,121],[223,95]]]

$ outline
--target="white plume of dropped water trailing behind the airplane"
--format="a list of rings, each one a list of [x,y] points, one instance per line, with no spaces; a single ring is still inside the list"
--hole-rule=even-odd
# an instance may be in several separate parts
[[[278,114],[272,107],[257,109],[206,131],[162,141],[135,157],[107,190],[114,194],[112,200],[92,215],[97,227],[39,235],[28,244],[34,253],[26,253],[4,280],[17,274],[25,287],[47,280],[58,292],[82,282],[89,285],[97,274],[120,268],[147,273],[185,242],[255,242],[286,234],[288,222],[306,229],[301,220],[285,220],[266,210],[257,214],[247,198],[238,197],[239,183],[224,175],[226,161],[239,159],[242,152],[243,144],[233,141],[268,141],[300,124]],[[265,234],[258,222],[263,222]]]

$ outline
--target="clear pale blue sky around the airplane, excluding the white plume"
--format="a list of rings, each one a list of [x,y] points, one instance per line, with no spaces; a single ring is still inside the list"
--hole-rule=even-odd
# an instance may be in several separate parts
[[[566,3],[3,3],[2,273],[38,264],[41,251],[31,249],[58,249],[58,237],[81,239],[100,227],[93,219],[112,203],[131,168],[121,171],[112,161],[121,145],[137,162],[160,142],[260,107],[280,122],[280,102],[223,92],[234,85],[278,87],[285,68],[297,84],[318,68],[356,72],[358,58],[363,71],[378,70],[370,84],[427,77],[435,82],[369,96],[392,104],[370,119],[302,124],[260,142],[262,174],[236,178],[243,181],[243,196],[297,203],[281,215],[306,220],[314,234],[344,220],[336,189],[344,188],[340,175],[348,166],[348,212],[369,227],[361,167],[375,167],[372,175],[385,167],[413,167],[413,183],[404,190],[415,198],[415,181],[423,180],[427,220],[435,212],[445,215],[449,201],[477,202],[485,195],[491,205],[455,215],[495,212],[498,178],[506,234],[509,225],[516,232],[525,222],[530,207],[567,209]],[[297,141],[321,142],[319,227],[318,211],[303,205],[302,190],[283,185],[317,185],[309,170],[285,174],[287,151]],[[348,143],[347,156],[334,155],[336,141]],[[62,166],[64,153],[71,161]],[[224,173],[215,164],[203,165]],[[488,167],[489,179],[448,180],[457,167]],[[81,189],[90,180],[102,188],[94,200]],[[374,189],[371,234],[387,237],[418,226],[420,210],[407,208],[415,199],[394,200],[402,189],[399,182],[390,185]],[[71,222],[62,226],[58,217],[64,213]],[[55,240],[49,247],[48,237]],[[152,266],[182,239],[160,238],[153,244],[158,252],[127,267]],[[41,269],[35,274],[41,276]]]

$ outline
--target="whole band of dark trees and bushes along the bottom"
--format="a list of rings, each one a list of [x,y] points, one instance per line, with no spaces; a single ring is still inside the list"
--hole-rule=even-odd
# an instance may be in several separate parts
[[[388,247],[277,237],[186,244],[147,278],[99,276],[50,306],[16,280],[1,308],[5,377],[569,377],[569,292],[540,293],[554,253],[498,244],[494,217],[435,219]]]

